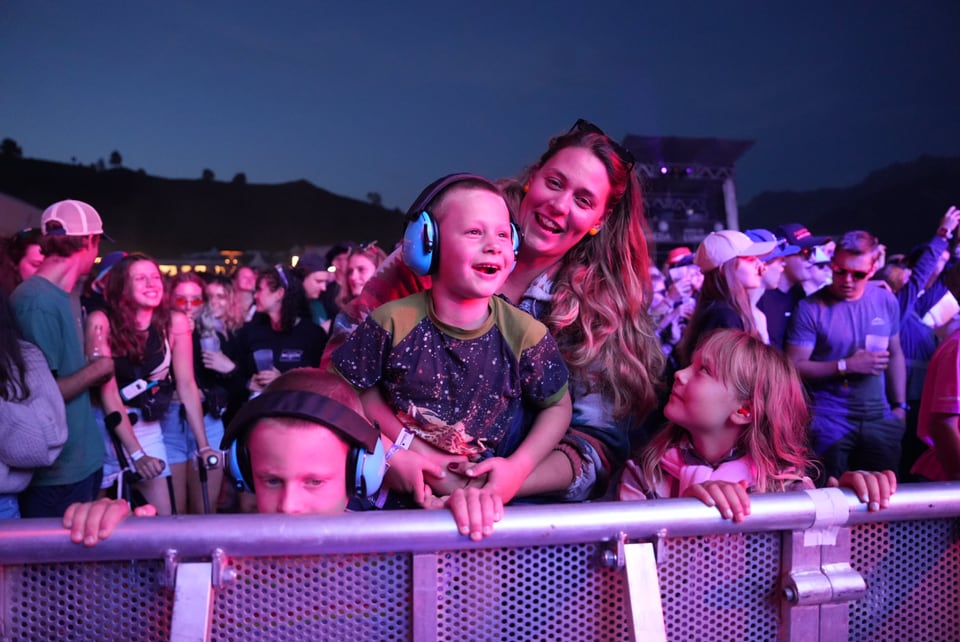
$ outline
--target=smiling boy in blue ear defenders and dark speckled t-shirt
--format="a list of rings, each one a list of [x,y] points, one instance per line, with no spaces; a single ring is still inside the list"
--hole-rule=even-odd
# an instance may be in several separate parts
[[[472,485],[499,515],[570,425],[567,367],[546,326],[494,296],[520,244],[496,185],[441,178],[407,218],[403,258],[430,289],[374,310],[332,364],[387,437],[415,436],[392,462],[402,490],[433,506]]]

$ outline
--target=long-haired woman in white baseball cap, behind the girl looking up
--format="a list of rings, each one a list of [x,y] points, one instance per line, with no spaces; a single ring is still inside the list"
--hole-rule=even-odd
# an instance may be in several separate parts
[[[711,232],[703,239],[693,258],[703,272],[703,287],[677,346],[677,365],[690,363],[697,344],[711,330],[737,328],[757,333],[749,291],[762,287],[764,266],[759,257],[776,247],[776,241],[757,243],[736,230]]]

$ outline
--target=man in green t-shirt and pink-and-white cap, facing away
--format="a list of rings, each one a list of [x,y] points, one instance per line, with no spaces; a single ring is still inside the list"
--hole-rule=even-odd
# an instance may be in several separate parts
[[[48,207],[40,218],[43,263],[11,295],[23,338],[43,352],[67,407],[67,443],[48,468],[38,469],[20,494],[23,517],[59,517],[67,506],[96,497],[104,445],[90,406],[89,389],[113,376],[111,359],[84,356],[80,317],[70,293],[93,268],[103,221],[82,201]],[[109,238],[109,237],[108,237]]]

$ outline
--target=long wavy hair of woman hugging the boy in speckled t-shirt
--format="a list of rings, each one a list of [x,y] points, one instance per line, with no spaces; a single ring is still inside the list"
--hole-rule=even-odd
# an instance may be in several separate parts
[[[519,203],[523,185],[567,147],[588,149],[603,163],[610,196],[599,232],[560,260],[545,323],[567,365],[613,401],[614,415],[641,420],[657,404],[664,356],[647,312],[650,255],[636,174],[609,137],[575,129],[553,138],[536,165],[504,186],[507,203]]]

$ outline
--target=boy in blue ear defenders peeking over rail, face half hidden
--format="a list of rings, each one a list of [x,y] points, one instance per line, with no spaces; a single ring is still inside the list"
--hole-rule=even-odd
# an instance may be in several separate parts
[[[274,380],[230,422],[222,447],[261,513],[336,515],[350,497],[379,490],[386,465],[379,431],[340,377],[300,368]],[[108,537],[130,508],[123,500],[73,504],[63,525],[74,542]],[[147,504],[137,516],[156,515]]]

